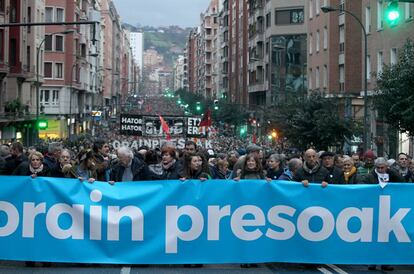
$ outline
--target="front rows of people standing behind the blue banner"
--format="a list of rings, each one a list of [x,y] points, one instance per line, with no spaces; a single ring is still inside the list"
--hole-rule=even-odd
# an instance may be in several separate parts
[[[278,180],[303,184],[386,184],[414,182],[414,161],[406,153],[397,159],[376,157],[371,150],[363,155],[338,155],[329,151],[308,149],[303,154],[275,153],[271,149],[243,142],[228,143],[213,150],[198,147],[191,140],[183,149],[173,143],[160,148],[111,148],[108,139],[85,142],[79,151],[60,142],[48,144],[47,151],[25,148],[19,142],[0,146],[0,175],[77,178],[82,182],[120,182],[148,180],[209,179]],[[225,149],[228,145],[228,149]],[[242,265],[251,267],[254,265]],[[375,269],[375,266],[370,266]],[[382,266],[390,270],[390,266]]]

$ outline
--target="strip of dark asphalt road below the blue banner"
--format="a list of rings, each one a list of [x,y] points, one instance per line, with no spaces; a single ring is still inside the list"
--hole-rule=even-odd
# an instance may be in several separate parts
[[[382,271],[378,267],[376,271],[368,270],[366,265],[320,265],[309,267],[298,264],[259,264],[257,268],[241,268],[238,264],[204,265],[202,268],[186,268],[183,265],[151,265],[121,266],[121,265],[80,265],[80,264],[52,264],[51,267],[25,267],[22,262],[0,262],[0,273],[59,273],[59,274],[272,274],[272,273],[323,273],[323,274],[347,274],[347,273],[414,273],[414,266],[394,266],[394,271]]]

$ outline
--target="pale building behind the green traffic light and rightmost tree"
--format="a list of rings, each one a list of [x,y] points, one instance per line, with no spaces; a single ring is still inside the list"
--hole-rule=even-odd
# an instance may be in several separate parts
[[[400,21],[396,26],[389,26],[384,20],[385,1],[361,1],[361,21],[367,31],[368,56],[368,93],[376,88],[376,76],[382,72],[384,65],[398,62],[399,50],[407,39],[414,39],[414,3],[399,3]],[[363,60],[364,58],[362,58]],[[395,157],[398,152],[414,153],[414,142],[405,134],[388,128],[376,111],[369,112],[371,138],[369,146],[379,155]]]

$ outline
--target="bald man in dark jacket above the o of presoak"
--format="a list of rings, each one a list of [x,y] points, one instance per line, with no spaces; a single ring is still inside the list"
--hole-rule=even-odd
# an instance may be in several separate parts
[[[323,167],[318,159],[318,154],[313,149],[305,152],[305,162],[294,177],[295,181],[302,182],[307,187],[309,183],[321,183],[322,187],[328,186],[329,171]]]

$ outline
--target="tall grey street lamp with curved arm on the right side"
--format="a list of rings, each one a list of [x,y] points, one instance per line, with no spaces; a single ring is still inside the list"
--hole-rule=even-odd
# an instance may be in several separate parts
[[[368,58],[368,39],[367,39],[367,31],[365,29],[364,24],[362,24],[361,20],[352,12],[347,11],[345,9],[334,8],[330,6],[321,7],[322,12],[328,13],[332,11],[341,11],[351,15],[361,26],[362,31],[364,32],[364,47],[365,47],[365,69],[364,69],[364,151],[368,149],[368,67],[367,67],[367,58]]]

